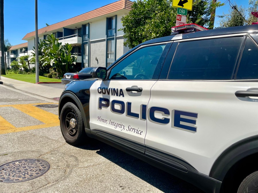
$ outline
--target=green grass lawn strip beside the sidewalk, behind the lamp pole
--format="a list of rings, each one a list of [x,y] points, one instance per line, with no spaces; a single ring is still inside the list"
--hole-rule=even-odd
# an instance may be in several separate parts
[[[6,75],[1,75],[6,78],[11,78],[15,80],[21,80],[24,82],[36,83],[35,74],[14,74],[13,72],[8,72]],[[39,76],[39,82],[61,82],[61,79],[47,78],[45,76]]]

